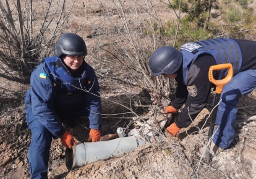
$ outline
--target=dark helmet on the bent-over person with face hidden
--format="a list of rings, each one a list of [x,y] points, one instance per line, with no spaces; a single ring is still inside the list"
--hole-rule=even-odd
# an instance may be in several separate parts
[[[151,75],[171,75],[181,67],[182,54],[171,46],[162,46],[150,57],[149,66]]]

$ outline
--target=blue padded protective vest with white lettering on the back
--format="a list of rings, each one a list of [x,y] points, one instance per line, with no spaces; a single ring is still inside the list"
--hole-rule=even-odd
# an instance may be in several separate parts
[[[236,41],[230,38],[215,38],[210,40],[186,43],[179,50],[183,56],[183,82],[187,85],[187,72],[194,61],[201,54],[210,54],[217,64],[231,63],[233,65],[233,76],[236,75],[242,64],[242,53]],[[218,80],[223,78],[228,72],[227,69],[221,70]]]

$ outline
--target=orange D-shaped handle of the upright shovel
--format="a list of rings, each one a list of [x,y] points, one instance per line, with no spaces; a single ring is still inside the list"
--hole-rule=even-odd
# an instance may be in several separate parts
[[[213,78],[213,70],[223,70],[223,69],[228,69],[228,75],[226,75],[225,78],[223,78],[222,80],[215,80],[215,78]],[[211,83],[216,85],[216,93],[221,94],[223,87],[229,83],[229,81],[232,80],[233,77],[233,67],[232,64],[219,64],[219,65],[213,65],[210,67],[209,69],[209,80]]]

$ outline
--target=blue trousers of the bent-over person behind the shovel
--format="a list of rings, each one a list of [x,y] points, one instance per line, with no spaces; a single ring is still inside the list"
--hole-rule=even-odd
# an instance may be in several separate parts
[[[233,142],[239,97],[250,93],[256,88],[256,70],[246,70],[238,73],[224,86],[216,115],[215,135],[213,142],[222,149],[226,149]]]

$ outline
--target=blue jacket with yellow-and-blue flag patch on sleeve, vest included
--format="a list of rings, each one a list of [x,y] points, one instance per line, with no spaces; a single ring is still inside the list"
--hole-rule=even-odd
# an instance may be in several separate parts
[[[62,120],[88,116],[90,128],[101,127],[100,86],[93,68],[83,62],[71,74],[58,57],[48,57],[33,70],[25,95],[26,110],[55,136],[64,134]],[[81,90],[83,89],[83,90]]]

